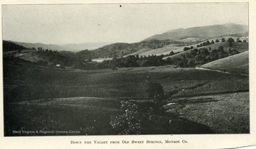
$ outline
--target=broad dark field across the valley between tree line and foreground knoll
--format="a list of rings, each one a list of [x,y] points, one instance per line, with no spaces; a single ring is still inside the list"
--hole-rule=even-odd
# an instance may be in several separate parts
[[[224,84],[218,83],[225,80]],[[57,68],[4,66],[4,99],[6,102],[44,98],[94,96],[102,98],[146,98],[148,81],[159,82],[166,93],[182,89],[195,94],[248,90],[248,77],[220,72],[175,69],[173,66],[131,67],[118,70],[61,70]],[[240,84],[239,86],[236,84]],[[208,87],[206,87],[208,86]],[[225,90],[223,90],[225,88]],[[178,96],[180,96],[178,94]]]

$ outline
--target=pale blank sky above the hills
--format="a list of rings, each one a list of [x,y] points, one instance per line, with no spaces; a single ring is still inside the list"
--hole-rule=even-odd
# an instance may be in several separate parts
[[[247,3],[3,5],[4,40],[134,43],[177,28],[248,25]]]

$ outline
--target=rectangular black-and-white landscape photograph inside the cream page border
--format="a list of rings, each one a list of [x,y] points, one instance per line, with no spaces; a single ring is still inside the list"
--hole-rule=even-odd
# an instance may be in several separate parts
[[[1,24],[5,137],[250,134],[248,3],[3,4]]]

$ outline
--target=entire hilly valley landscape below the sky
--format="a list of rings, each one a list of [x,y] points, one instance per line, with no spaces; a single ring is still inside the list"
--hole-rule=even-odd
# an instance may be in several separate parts
[[[4,135],[250,133],[248,42],[233,23],[76,53],[4,41]]]

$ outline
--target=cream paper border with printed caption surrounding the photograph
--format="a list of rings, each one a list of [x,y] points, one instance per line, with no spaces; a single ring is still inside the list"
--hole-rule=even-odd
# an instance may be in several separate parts
[[[255,26],[256,26],[256,1],[254,0],[233,0],[233,1],[186,1],[186,0],[140,0],[140,1],[70,1],[70,0],[1,0],[0,4],[124,4],[124,3],[192,3],[192,2],[249,2],[249,49],[250,49],[250,134],[237,134],[237,135],[143,135],[143,136],[37,136],[37,137],[4,137],[4,118],[3,118],[3,100],[0,102],[0,148],[239,148],[242,146],[256,145],[256,103],[255,103]],[[1,8],[0,8],[1,9]],[[240,10],[238,10],[240,11]],[[0,11],[1,13],[1,11]],[[1,35],[1,30],[0,30]],[[2,42],[0,42],[2,47]],[[2,52],[1,52],[0,65],[2,66]],[[2,69],[0,70],[3,76]],[[0,79],[1,87],[3,87],[3,80]],[[0,89],[0,94],[3,96],[3,90]],[[188,140],[188,143],[180,144],[107,144],[107,145],[90,145],[80,144],[71,145],[70,140]]]

